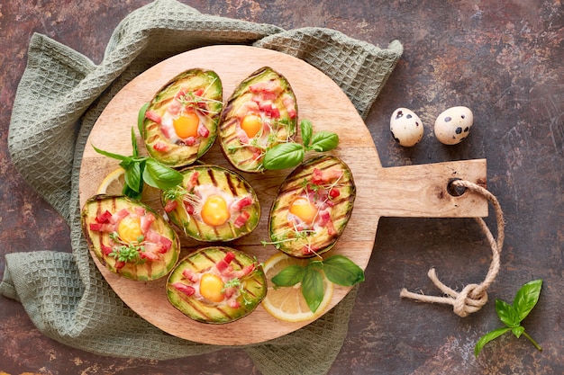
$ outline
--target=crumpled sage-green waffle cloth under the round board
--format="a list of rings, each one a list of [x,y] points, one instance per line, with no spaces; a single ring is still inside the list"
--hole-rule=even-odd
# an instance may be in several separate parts
[[[86,138],[114,94],[159,61],[188,49],[246,44],[301,58],[330,76],[366,116],[403,48],[353,40],[339,31],[243,22],[157,0],[120,22],[99,65],[34,34],[14,101],[9,149],[14,165],[67,220],[72,253],[6,255],[0,292],[22,302],[44,335],[92,353],[165,360],[224,346],[168,335],[123,304],[87,250],[80,227],[78,175]],[[242,348],[264,374],[323,374],[341,349],[356,289],[335,308],[296,332]]]

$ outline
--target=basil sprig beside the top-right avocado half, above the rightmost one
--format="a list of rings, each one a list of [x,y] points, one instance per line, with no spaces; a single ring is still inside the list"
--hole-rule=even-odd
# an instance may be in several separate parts
[[[325,130],[314,133],[311,121],[301,121],[300,130],[304,144],[287,142],[269,148],[262,161],[265,169],[278,170],[295,167],[304,160],[305,151],[327,152],[339,144],[339,136],[336,133]]]

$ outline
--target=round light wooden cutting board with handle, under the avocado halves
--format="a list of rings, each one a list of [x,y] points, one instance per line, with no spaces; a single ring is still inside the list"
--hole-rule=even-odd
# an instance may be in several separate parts
[[[342,237],[328,253],[343,254],[366,269],[378,228],[378,219],[394,217],[485,217],[487,201],[471,192],[455,197],[447,191],[451,178],[474,183],[486,182],[486,161],[470,160],[433,165],[410,165],[383,168],[370,133],[347,96],[328,76],[303,60],[269,49],[247,46],[214,46],[194,49],[159,63],[137,76],[114,96],[100,115],[88,138],[80,170],[80,205],[96,194],[105,175],[118,161],[96,153],[92,145],[105,151],[131,155],[131,131],[137,131],[137,115],[143,105],[178,73],[200,67],[214,70],[222,79],[225,102],[239,83],[260,67],[272,67],[286,76],[295,91],[298,116],[308,119],[314,131],[336,132],[339,147],[332,151],[350,166],[357,187],[357,197],[350,222]],[[386,124],[387,126],[387,124]],[[390,138],[391,139],[391,138]],[[138,134],[141,153],[142,140]],[[307,155],[313,156],[313,155]],[[307,157],[306,156],[306,157]],[[231,168],[216,144],[202,161]],[[264,174],[241,174],[259,196],[262,216],[259,227],[250,235],[226,246],[255,255],[259,262],[277,252],[274,246],[262,246],[268,240],[268,211],[278,186],[290,171]],[[163,212],[157,192],[146,202]],[[152,198],[151,198],[152,197]],[[185,256],[206,244],[183,238]],[[166,278],[158,281],[131,281],[109,272],[91,253],[105,280],[118,296],[154,326],[170,335],[204,344],[254,344],[287,335],[311,322],[287,323],[271,317],[258,307],[248,317],[224,325],[198,323],[168,303]],[[398,290],[401,286],[398,286]],[[336,287],[329,308],[333,308],[350,288]],[[328,309],[329,309],[328,308]]]

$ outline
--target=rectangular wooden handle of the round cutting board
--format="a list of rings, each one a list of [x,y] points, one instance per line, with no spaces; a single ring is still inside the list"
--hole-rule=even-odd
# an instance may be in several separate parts
[[[454,196],[451,179],[459,178],[485,186],[486,159],[463,160],[429,165],[407,165],[376,171],[376,210],[383,217],[483,218],[487,199],[475,192]]]

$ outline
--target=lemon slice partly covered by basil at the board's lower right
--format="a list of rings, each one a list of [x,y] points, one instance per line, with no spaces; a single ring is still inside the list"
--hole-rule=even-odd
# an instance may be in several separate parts
[[[267,277],[267,296],[262,300],[262,307],[273,317],[287,322],[301,322],[320,317],[329,306],[333,294],[333,284],[323,275],[323,300],[319,308],[312,312],[302,295],[301,283],[293,287],[282,287],[274,289],[272,278],[288,265],[298,264],[305,266],[309,263],[307,259],[297,259],[284,253],[272,255],[264,263],[264,272]]]

